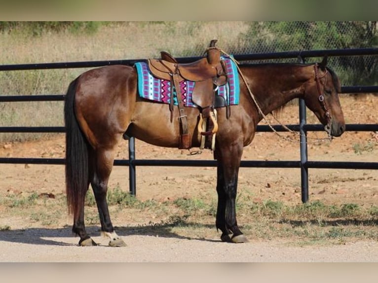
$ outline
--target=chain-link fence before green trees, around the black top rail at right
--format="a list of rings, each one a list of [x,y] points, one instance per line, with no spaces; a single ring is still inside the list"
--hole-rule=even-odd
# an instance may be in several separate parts
[[[230,54],[270,53],[282,51],[372,48],[378,47],[377,22],[217,22],[198,24],[191,22],[188,40],[198,41],[195,48],[183,51],[183,56],[200,56],[206,48],[208,31],[216,35],[218,46]],[[189,33],[190,35],[190,33]],[[228,37],[225,37],[227,35]],[[213,36],[216,38],[215,36]],[[200,42],[202,40],[202,42]],[[306,58],[317,62],[321,58]],[[296,58],[254,61],[297,62]],[[377,56],[330,57],[329,66],[338,73],[343,85],[373,85],[378,83]]]

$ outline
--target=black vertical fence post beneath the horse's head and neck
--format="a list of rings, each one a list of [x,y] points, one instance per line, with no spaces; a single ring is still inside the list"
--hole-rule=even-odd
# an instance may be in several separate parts
[[[299,128],[301,133],[301,191],[302,203],[308,201],[308,168],[305,166],[307,162],[307,131],[303,129],[306,124],[306,105],[304,99],[299,100]]]

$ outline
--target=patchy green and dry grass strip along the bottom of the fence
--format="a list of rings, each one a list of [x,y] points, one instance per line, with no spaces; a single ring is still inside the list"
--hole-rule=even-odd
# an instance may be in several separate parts
[[[30,226],[54,228],[71,225],[62,212],[64,194],[46,195],[36,192],[0,196],[0,209],[8,213],[0,223],[0,231],[13,230],[12,219],[28,219]],[[215,238],[216,201],[210,195],[201,199],[179,198],[175,201],[141,201],[119,188],[108,194],[108,203],[117,230],[123,233],[167,236],[176,234],[188,239]],[[88,192],[85,208],[87,225],[99,226],[93,193]],[[345,244],[356,240],[375,240],[378,236],[378,207],[357,204],[326,205],[319,201],[286,205],[266,200],[252,202],[238,198],[238,220],[251,239],[291,239],[293,245]],[[130,216],[132,215],[132,217]],[[129,217],[130,216],[130,217]],[[146,220],[147,219],[147,220]],[[149,220],[150,219],[150,220]]]

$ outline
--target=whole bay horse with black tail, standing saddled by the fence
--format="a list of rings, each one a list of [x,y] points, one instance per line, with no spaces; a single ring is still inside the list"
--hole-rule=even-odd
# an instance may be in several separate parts
[[[221,241],[248,242],[236,221],[235,198],[243,147],[249,145],[264,115],[295,98],[316,115],[332,137],[345,131],[338,92],[340,81],[327,66],[326,58],[316,64],[269,63],[239,66],[239,104],[217,108],[218,132],[214,158],[217,160],[218,206],[215,226]],[[101,233],[109,245],[125,246],[116,234],[106,201],[114,150],[122,136],[163,147],[179,146],[179,110],[140,98],[137,72],[132,66],[113,65],[83,72],[73,80],[65,98],[66,191],[72,231],[80,246],[97,245],[84,225],[84,198],[91,184],[101,222]],[[254,98],[254,99],[253,99]],[[257,106],[258,105],[258,106]],[[191,147],[199,147],[199,109],[186,107]]]

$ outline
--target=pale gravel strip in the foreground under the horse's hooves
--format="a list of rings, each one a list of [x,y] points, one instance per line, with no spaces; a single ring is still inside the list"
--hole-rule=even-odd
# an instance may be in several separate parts
[[[95,234],[95,233],[92,233]],[[78,247],[70,228],[0,232],[1,262],[377,262],[378,242],[290,246],[281,241],[227,244],[218,239],[131,235],[127,247],[110,248],[107,238],[93,237],[99,247]]]

